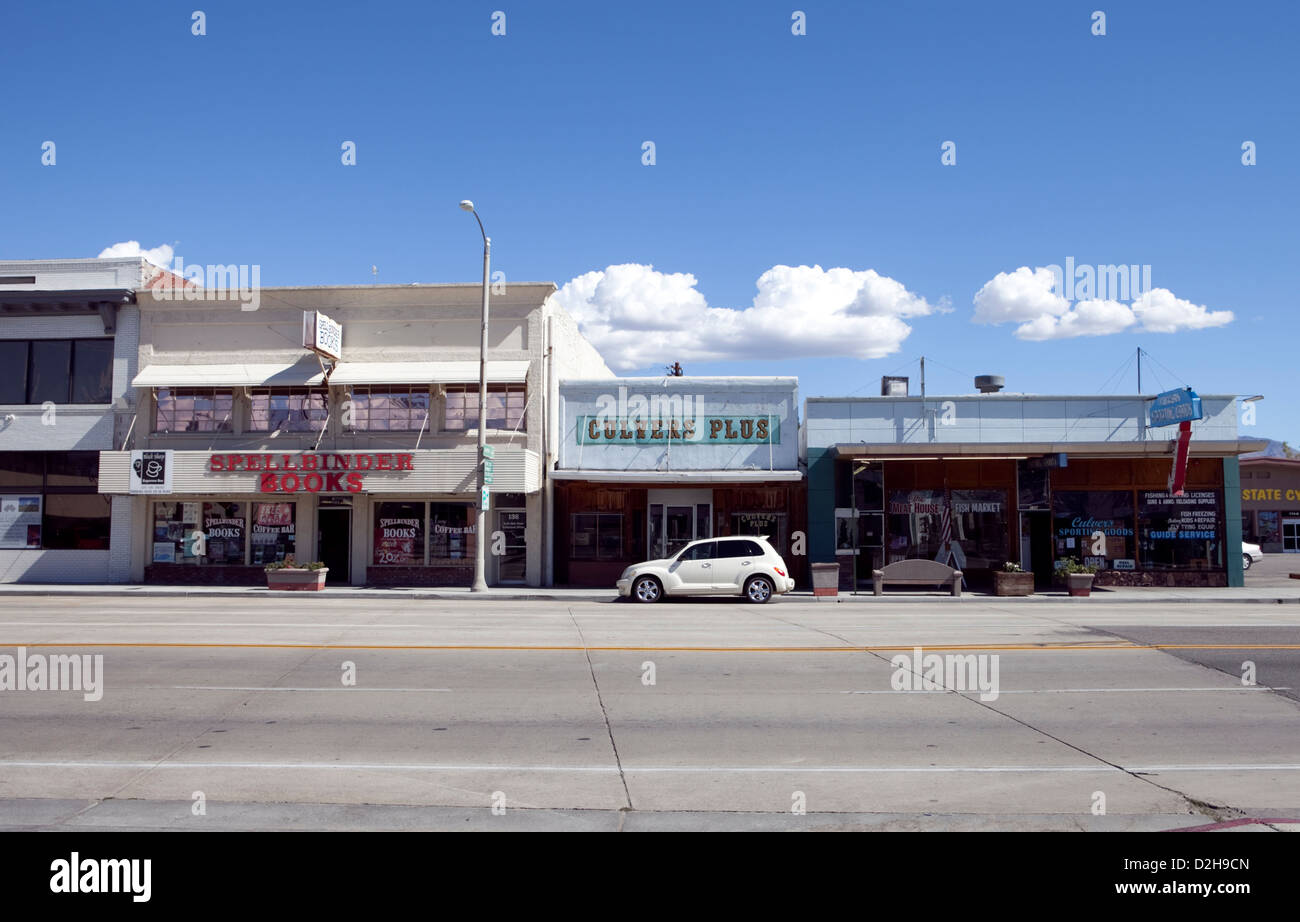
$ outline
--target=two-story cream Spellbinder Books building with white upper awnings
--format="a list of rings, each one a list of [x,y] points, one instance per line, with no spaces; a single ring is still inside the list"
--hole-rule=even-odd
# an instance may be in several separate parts
[[[491,298],[489,584],[550,581],[555,382],[611,375],[554,291]],[[114,579],[257,584],[294,555],[333,585],[471,583],[478,285],[261,289],[256,310],[172,294],[140,293],[133,424],[100,455],[99,492],[129,508]],[[341,325],[337,363],[303,347],[304,313]]]

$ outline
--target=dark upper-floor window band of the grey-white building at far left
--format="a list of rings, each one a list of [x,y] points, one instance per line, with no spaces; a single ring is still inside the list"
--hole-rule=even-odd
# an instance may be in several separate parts
[[[0,403],[110,403],[112,339],[0,341]]]

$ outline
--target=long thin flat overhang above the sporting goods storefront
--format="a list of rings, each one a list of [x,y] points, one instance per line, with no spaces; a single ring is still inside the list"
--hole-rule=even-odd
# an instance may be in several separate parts
[[[1234,458],[1257,451],[1266,442],[1192,441],[1193,458]],[[904,445],[867,445],[840,442],[832,446],[836,458],[861,460],[1017,460],[1041,455],[1063,454],[1084,458],[1167,458],[1173,455],[1170,440],[1148,442],[927,442]]]

